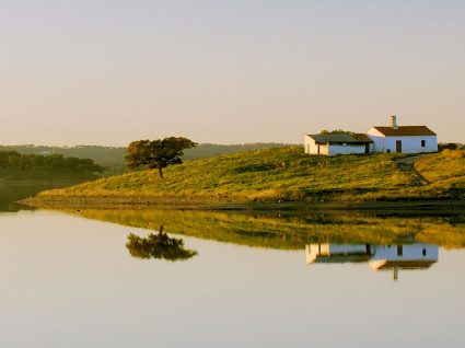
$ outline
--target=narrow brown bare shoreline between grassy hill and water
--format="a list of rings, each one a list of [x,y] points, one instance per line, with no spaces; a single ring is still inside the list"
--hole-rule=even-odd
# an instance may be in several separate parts
[[[153,199],[153,198],[38,198],[22,199],[16,204],[31,208],[95,209],[95,210],[205,210],[229,212],[282,211],[365,211],[380,213],[465,213],[465,200],[396,200],[396,201],[225,201],[216,199]]]

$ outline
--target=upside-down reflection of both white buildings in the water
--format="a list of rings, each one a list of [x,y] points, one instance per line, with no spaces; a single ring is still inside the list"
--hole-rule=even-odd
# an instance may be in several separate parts
[[[368,263],[373,270],[392,270],[398,279],[400,269],[428,269],[438,262],[439,246],[431,244],[309,244],[307,264]]]

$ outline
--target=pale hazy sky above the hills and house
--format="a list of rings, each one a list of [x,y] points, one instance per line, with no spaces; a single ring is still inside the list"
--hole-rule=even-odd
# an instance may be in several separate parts
[[[0,0],[0,143],[465,141],[463,0]]]

